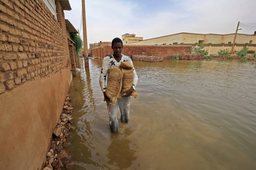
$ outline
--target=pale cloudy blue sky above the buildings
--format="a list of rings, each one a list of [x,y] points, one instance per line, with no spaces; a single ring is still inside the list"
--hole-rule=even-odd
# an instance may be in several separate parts
[[[64,11],[65,18],[80,30],[82,1],[69,3],[72,10]],[[85,0],[87,45],[126,33],[143,40],[181,32],[235,33],[238,21],[256,23],[255,6],[256,0]],[[80,36],[83,40],[83,31]]]

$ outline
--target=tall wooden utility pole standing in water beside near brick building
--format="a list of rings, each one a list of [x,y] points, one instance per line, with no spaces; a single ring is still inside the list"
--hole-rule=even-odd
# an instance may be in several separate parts
[[[85,2],[82,0],[82,16],[83,16],[83,39],[84,39],[84,65],[89,67],[88,62],[88,48],[87,48],[87,31],[86,31],[86,19],[85,19]]]

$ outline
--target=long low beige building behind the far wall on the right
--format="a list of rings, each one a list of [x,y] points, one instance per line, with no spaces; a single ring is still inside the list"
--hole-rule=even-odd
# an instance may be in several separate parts
[[[122,35],[122,38],[126,34]],[[131,34],[128,34],[131,35]],[[135,34],[133,34],[135,35]],[[172,35],[166,35],[156,38],[150,38],[147,40],[140,40],[136,42],[126,41],[129,40],[129,36],[125,38],[125,41],[129,45],[175,45],[175,44],[232,44],[234,41],[235,34],[194,34],[194,33],[177,33]],[[136,37],[134,37],[135,39]],[[141,37],[143,39],[143,37]],[[124,38],[123,38],[124,42]],[[237,44],[256,44],[256,34],[237,34]],[[125,43],[126,44],[126,43]]]

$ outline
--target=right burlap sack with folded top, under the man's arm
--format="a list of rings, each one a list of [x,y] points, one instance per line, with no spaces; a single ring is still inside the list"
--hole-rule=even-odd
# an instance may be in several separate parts
[[[131,64],[129,62],[122,62],[119,66],[119,68],[122,68],[123,69],[123,72],[124,72],[124,75],[123,75],[123,84],[122,84],[122,90],[121,90],[121,93],[122,95],[123,92],[127,91],[127,90],[130,90],[131,87],[132,87],[132,84],[133,84],[133,68],[131,66]],[[138,96],[138,93],[136,90],[134,90],[132,93],[131,93],[131,96],[137,98]]]

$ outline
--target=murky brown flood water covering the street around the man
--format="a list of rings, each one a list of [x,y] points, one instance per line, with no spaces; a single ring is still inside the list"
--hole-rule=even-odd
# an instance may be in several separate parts
[[[139,97],[111,133],[101,60],[72,80],[74,170],[256,169],[256,62],[133,61]],[[120,122],[120,112],[118,112]]]

